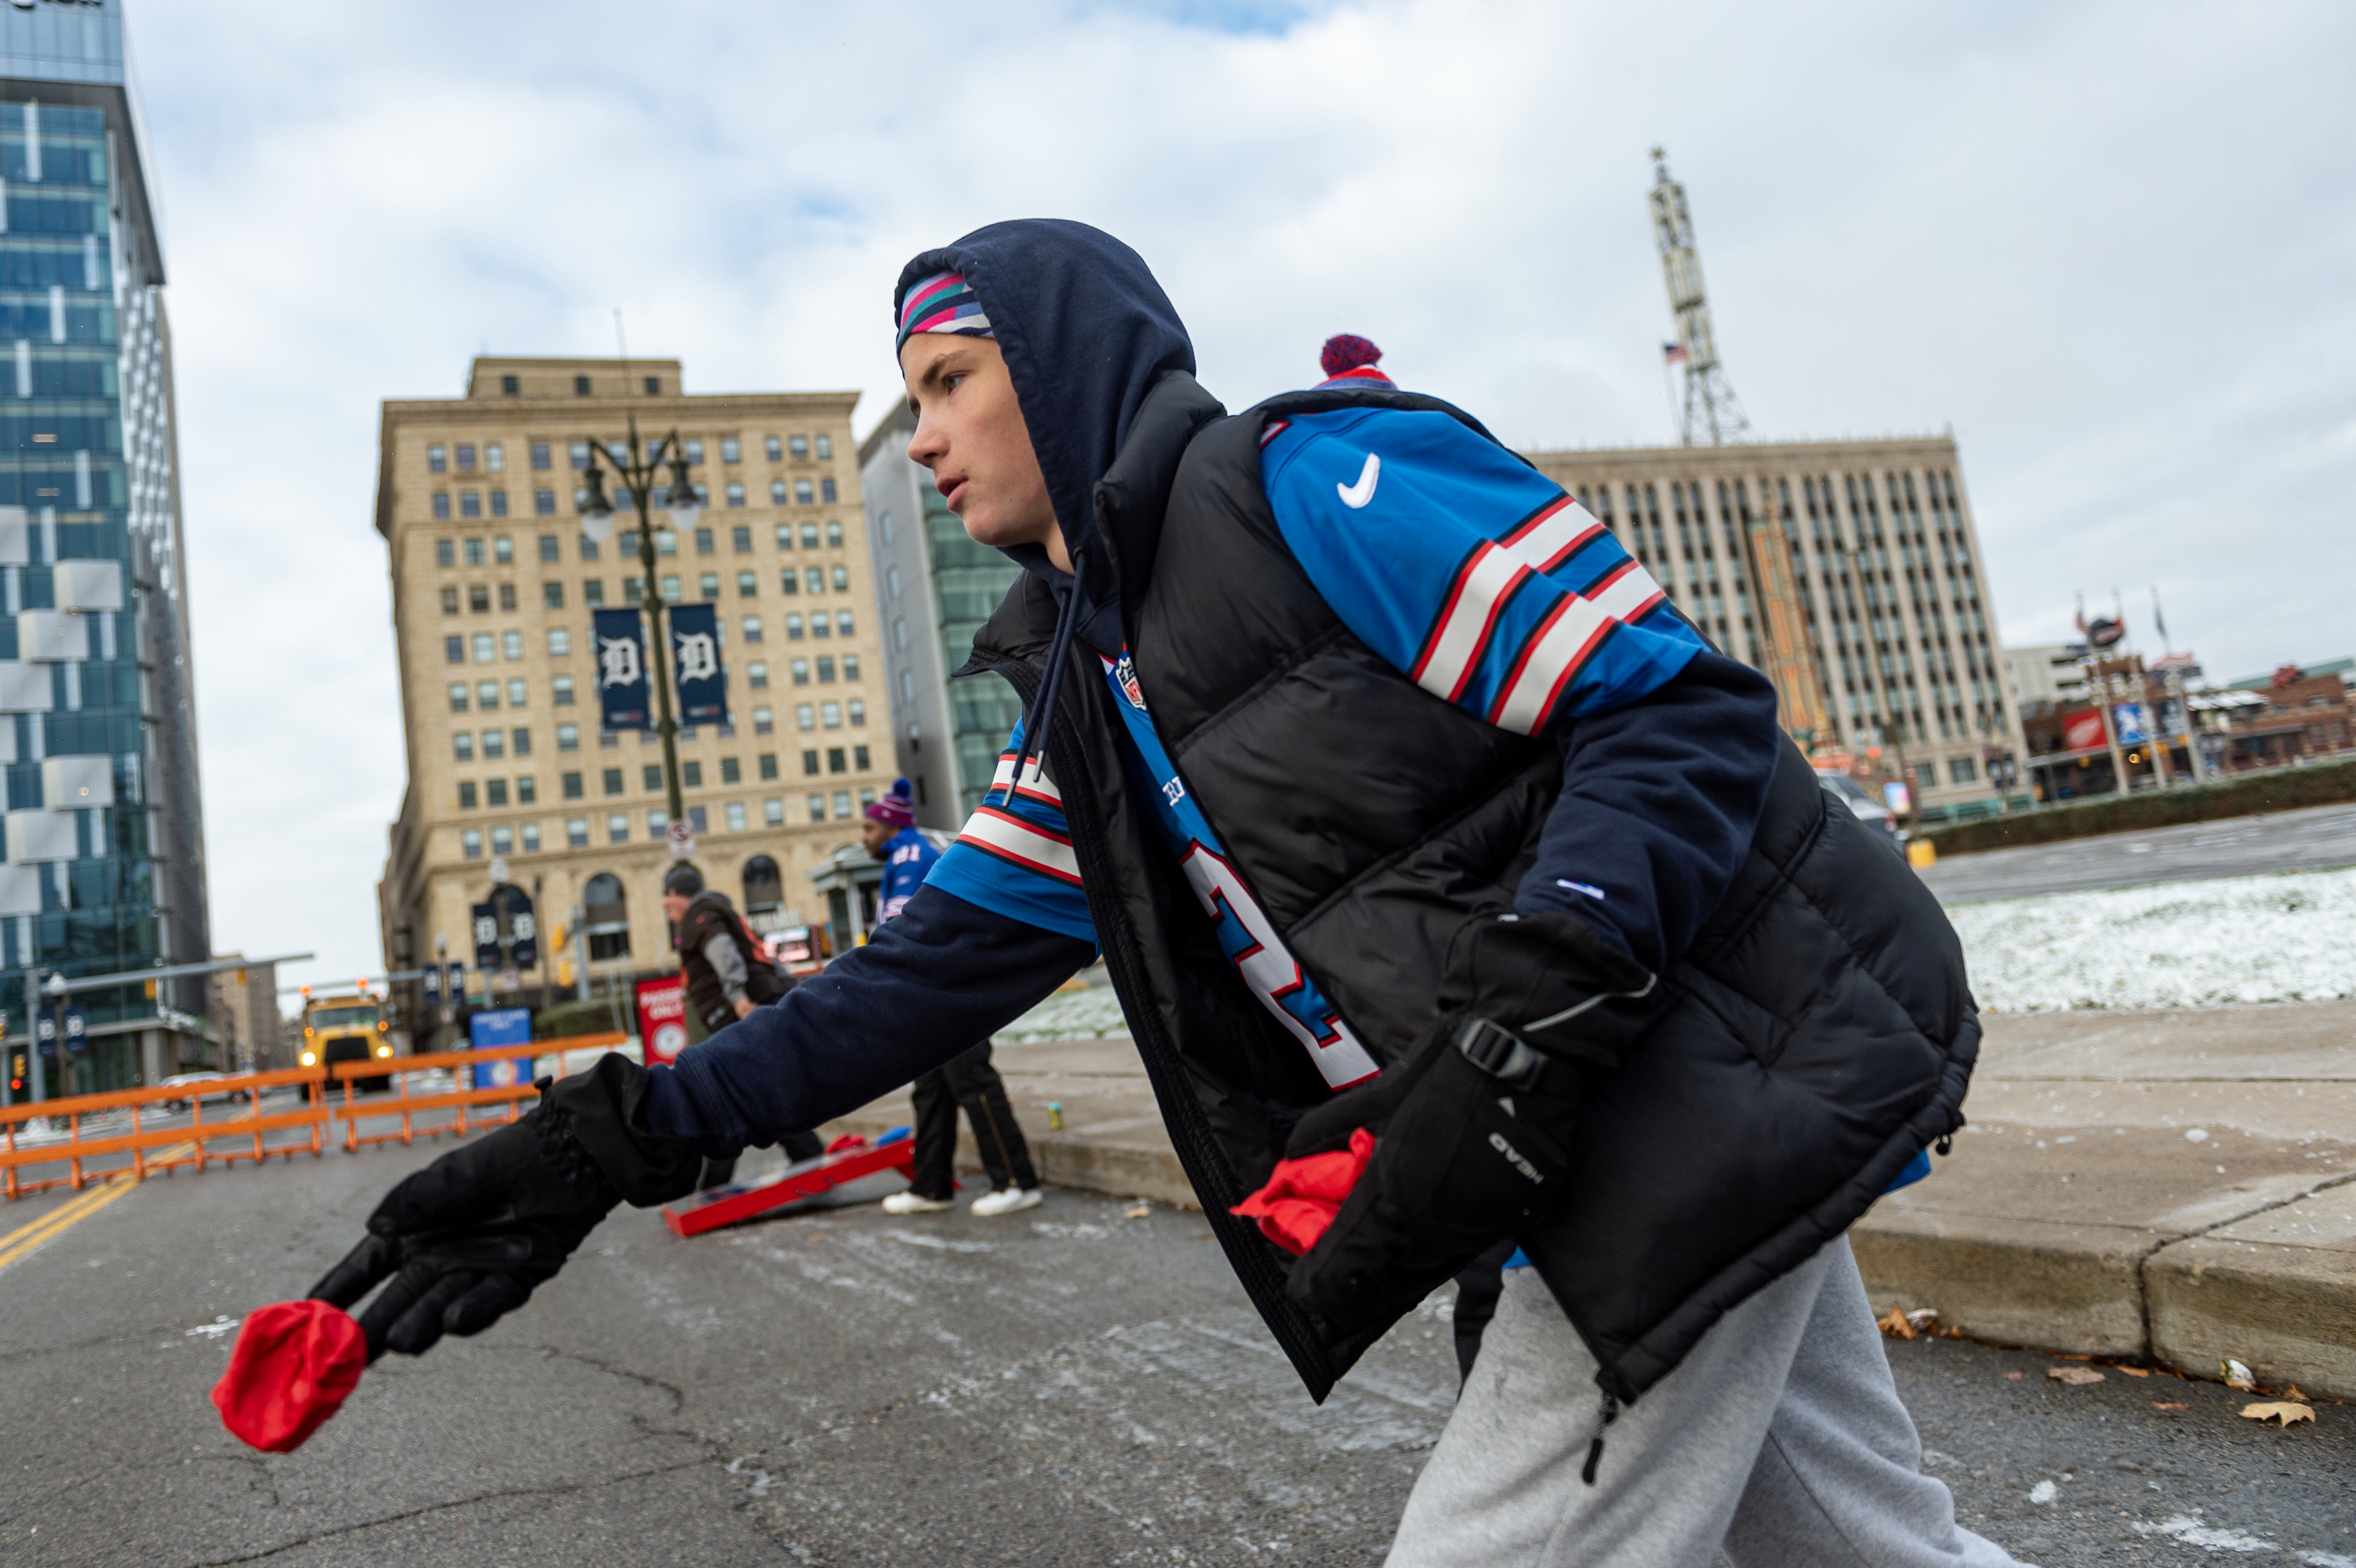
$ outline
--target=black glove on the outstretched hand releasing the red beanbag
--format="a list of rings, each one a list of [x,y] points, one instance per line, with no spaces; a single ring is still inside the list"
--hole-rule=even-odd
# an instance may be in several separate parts
[[[478,1335],[556,1276],[605,1212],[695,1187],[702,1156],[634,1128],[646,1069],[608,1055],[554,1083],[514,1125],[452,1149],[384,1194],[368,1238],[311,1288],[358,1314],[368,1358],[422,1356],[443,1333]]]

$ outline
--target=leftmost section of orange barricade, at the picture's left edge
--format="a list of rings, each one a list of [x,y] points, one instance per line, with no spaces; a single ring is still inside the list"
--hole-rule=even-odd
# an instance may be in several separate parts
[[[0,1182],[9,1198],[71,1187],[82,1191],[90,1182],[118,1175],[146,1180],[155,1170],[177,1170],[210,1163],[236,1165],[238,1161],[269,1161],[271,1156],[294,1158],[297,1154],[320,1154],[325,1149],[327,1102],[323,1085],[325,1069],[290,1067],[276,1074],[233,1074],[205,1083],[158,1085],[115,1090],[111,1095],[71,1095],[66,1099],[38,1099],[0,1109]],[[285,1085],[302,1085],[297,1109],[262,1111],[262,1092]],[[243,1109],[205,1116],[205,1099],[243,1099]],[[188,1104],[188,1125],[151,1128],[146,1118],[158,1107]],[[35,1137],[24,1123],[66,1123],[64,1137]],[[94,1121],[97,1125],[85,1125]],[[309,1128],[302,1142],[264,1142],[269,1132]],[[238,1140],[243,1147],[212,1149],[217,1140]],[[118,1161],[113,1156],[127,1156]],[[106,1161],[99,1170],[85,1170],[90,1161]],[[26,1180],[26,1165],[66,1165],[64,1175]]]

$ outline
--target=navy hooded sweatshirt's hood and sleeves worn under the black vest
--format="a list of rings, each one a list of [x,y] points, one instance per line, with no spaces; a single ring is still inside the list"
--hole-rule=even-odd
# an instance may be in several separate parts
[[[1063,636],[1112,659],[1121,626],[1114,584],[1100,579],[1091,553],[1093,490],[1147,388],[1171,370],[1192,372],[1185,327],[1143,259],[1084,224],[980,228],[909,261],[895,304],[940,271],[961,273],[987,306],[1079,582],[1037,544],[1006,553],[1053,589]],[[1315,563],[1305,565],[1315,582]],[[1336,610],[1348,612],[1341,600]],[[1079,666],[1060,659],[1053,669]],[[1034,739],[1058,723],[1053,706],[1051,680],[1030,716]],[[1772,687],[1715,652],[1692,655],[1628,706],[1581,716],[1517,906],[1569,909],[1647,968],[1666,968],[1741,864],[1774,749]],[[978,852],[961,843],[942,866],[959,855]],[[1086,928],[1044,904],[1001,895],[990,878],[940,881],[815,979],[690,1048],[676,1067],[650,1069],[648,1130],[714,1156],[770,1144],[987,1041],[1093,958]],[[1612,897],[1597,899],[1595,888],[1612,888]],[[1440,958],[1430,956],[1435,982]]]

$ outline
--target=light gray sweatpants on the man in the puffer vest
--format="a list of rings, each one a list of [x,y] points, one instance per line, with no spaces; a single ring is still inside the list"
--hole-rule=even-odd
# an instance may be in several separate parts
[[[1595,1356],[1510,1269],[1388,1568],[2000,1568],[1955,1526],[1847,1236],[1729,1311],[1604,1431]]]

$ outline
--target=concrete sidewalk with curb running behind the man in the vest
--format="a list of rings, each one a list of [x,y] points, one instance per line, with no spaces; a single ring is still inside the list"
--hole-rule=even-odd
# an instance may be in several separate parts
[[[1854,1231],[1875,1307],[2203,1377],[2238,1356],[2264,1387],[2356,1398],[2356,1003],[1986,1026],[1953,1156]],[[1126,1038],[997,1064],[1046,1182],[1197,1205]],[[829,1132],[907,1121],[902,1092]]]

